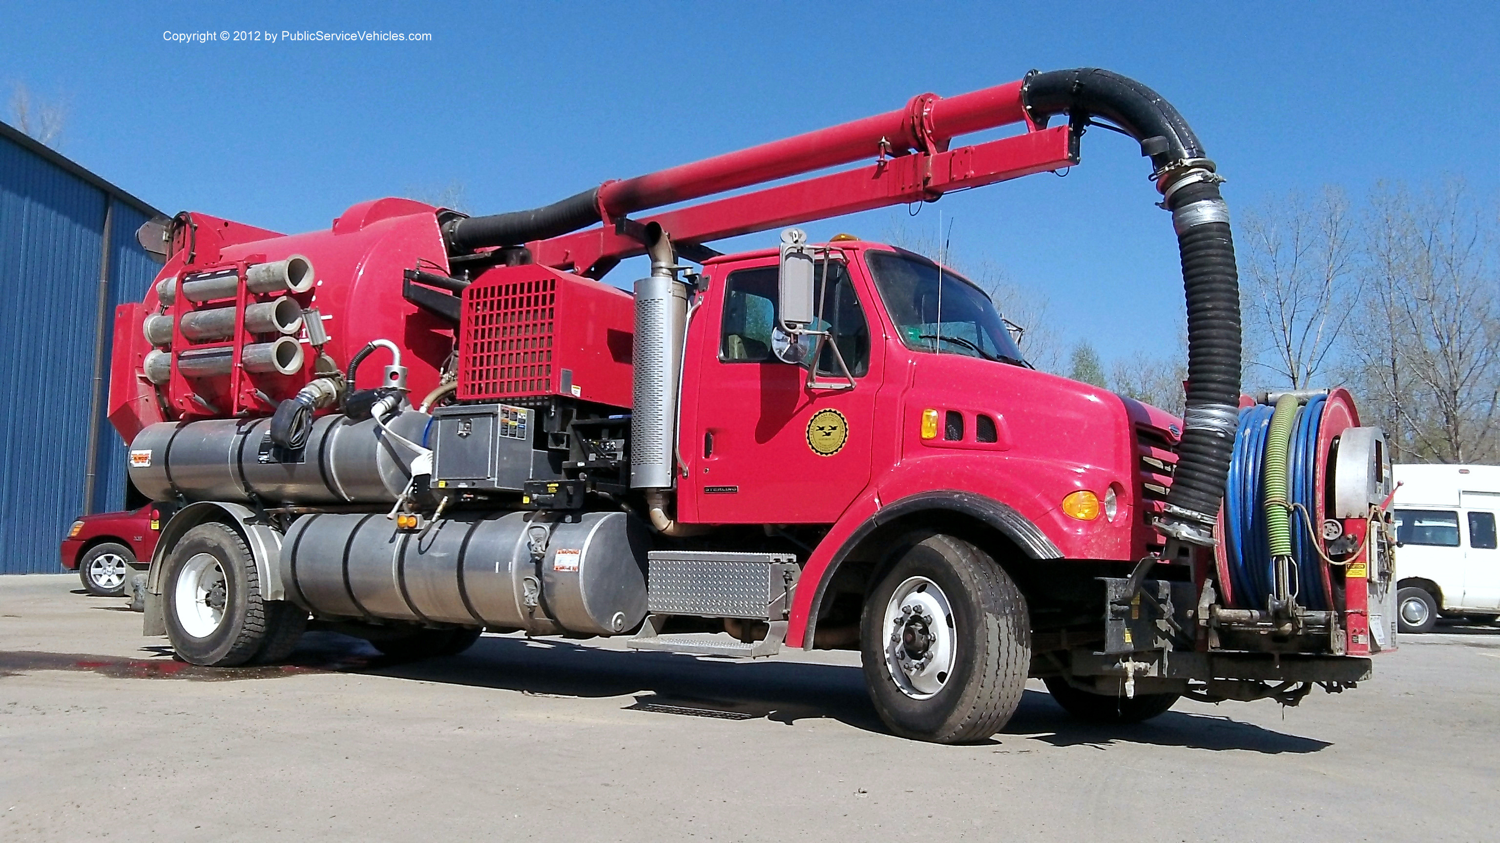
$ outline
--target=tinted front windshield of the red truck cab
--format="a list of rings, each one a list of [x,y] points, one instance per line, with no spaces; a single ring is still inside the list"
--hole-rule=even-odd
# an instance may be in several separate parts
[[[994,303],[969,280],[912,254],[866,252],[866,261],[908,348],[1026,366]]]

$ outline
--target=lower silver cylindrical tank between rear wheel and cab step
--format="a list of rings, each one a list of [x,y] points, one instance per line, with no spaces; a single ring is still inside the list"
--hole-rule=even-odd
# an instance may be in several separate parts
[[[312,514],[282,580],[320,616],[620,634],[645,618],[646,531],[626,513],[464,514],[423,532],[384,514]]]

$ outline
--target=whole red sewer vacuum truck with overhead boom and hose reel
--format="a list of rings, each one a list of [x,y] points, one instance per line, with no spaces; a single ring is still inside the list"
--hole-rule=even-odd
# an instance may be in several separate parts
[[[1184,418],[1035,370],[926,256],[710,246],[1074,166],[1095,124],[1176,230]],[[942,742],[1028,676],[1106,722],[1352,687],[1395,644],[1383,440],[1342,390],[1240,396],[1220,182],[1156,93],[1077,69],[526,212],[148,224],[165,266],[110,392],[132,483],[176,508],[146,632],[212,666],[285,658],[309,618],[406,658],[486,628],[858,650],[891,730]],[[636,255],[633,294],[600,280]]]

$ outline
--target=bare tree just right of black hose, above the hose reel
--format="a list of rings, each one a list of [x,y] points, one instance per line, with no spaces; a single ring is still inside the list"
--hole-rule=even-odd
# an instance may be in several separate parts
[[[1358,297],[1348,201],[1338,188],[1314,200],[1290,194],[1246,214],[1242,231],[1248,374],[1316,386]]]

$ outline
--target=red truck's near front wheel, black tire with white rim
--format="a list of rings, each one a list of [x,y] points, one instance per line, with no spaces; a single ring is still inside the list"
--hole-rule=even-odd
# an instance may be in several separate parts
[[[903,738],[958,744],[1005,726],[1030,669],[1026,598],[974,544],[914,534],[864,604],[864,681]]]

